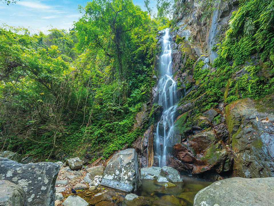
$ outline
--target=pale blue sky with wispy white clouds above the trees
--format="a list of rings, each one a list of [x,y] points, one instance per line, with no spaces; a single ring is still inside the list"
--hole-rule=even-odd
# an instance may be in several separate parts
[[[45,32],[51,27],[69,29],[73,21],[80,17],[78,5],[84,6],[86,2],[88,1],[21,0],[8,6],[0,1],[0,26],[6,23],[9,26],[29,27],[34,32]],[[143,0],[133,0],[133,3],[145,10]],[[154,5],[155,2],[152,0],[151,4]]]

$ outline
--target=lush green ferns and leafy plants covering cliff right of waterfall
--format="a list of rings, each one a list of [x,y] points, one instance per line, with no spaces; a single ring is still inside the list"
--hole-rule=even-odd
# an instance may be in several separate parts
[[[212,72],[204,68],[202,60],[195,65],[193,78],[200,87],[185,99],[195,100],[203,95],[195,101],[197,116],[223,100],[230,103],[239,98],[258,99],[273,93],[273,12],[273,0],[240,2],[239,9],[231,16],[225,36],[215,45],[218,57],[211,66],[216,70]],[[189,62],[186,62],[186,67]],[[190,63],[192,67],[195,62]],[[191,86],[185,85],[185,88]]]

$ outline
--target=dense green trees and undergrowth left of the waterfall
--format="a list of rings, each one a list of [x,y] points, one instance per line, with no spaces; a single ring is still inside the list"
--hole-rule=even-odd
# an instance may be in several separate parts
[[[79,9],[69,32],[0,28],[1,150],[49,159],[90,146],[108,157],[143,132],[131,130],[155,84],[155,37],[166,19],[131,0]]]

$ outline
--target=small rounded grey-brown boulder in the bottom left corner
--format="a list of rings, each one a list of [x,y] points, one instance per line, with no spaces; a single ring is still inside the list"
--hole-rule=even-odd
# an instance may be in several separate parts
[[[0,180],[1,206],[27,206],[26,194],[22,187],[7,180]]]

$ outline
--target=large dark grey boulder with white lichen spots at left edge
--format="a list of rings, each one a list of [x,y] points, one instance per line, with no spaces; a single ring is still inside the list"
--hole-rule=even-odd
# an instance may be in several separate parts
[[[11,181],[23,188],[28,206],[53,206],[55,181],[60,166],[51,162],[22,165],[0,158],[0,180]]]

